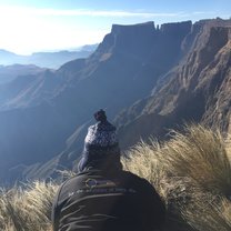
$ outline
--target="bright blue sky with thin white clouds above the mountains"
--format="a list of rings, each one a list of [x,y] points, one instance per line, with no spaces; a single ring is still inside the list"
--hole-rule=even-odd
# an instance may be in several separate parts
[[[0,0],[0,49],[19,54],[102,41],[112,24],[231,17],[231,0]]]

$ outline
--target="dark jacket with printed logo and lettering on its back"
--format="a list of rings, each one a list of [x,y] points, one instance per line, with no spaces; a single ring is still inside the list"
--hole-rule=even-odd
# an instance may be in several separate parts
[[[153,231],[164,213],[147,180],[125,171],[88,170],[61,185],[52,223],[54,231]]]

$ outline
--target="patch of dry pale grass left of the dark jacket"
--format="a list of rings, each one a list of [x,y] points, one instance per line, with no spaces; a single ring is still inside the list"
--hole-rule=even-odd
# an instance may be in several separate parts
[[[51,230],[51,204],[58,185],[36,181],[0,193],[0,230]]]

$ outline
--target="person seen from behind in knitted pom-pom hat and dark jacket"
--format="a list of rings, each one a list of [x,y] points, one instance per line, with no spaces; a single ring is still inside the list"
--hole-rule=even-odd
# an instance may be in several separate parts
[[[155,189],[123,171],[116,128],[103,110],[94,114],[84,140],[79,173],[57,192],[52,207],[53,231],[154,231],[165,218]]]

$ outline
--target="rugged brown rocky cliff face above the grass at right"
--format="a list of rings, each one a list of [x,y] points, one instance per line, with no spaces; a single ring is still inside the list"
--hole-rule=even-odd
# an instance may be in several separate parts
[[[222,20],[193,24],[182,42],[184,57],[179,64],[159,81],[151,97],[118,117],[123,147],[150,134],[163,138],[168,129],[183,122],[201,122],[228,132],[231,112],[230,26],[231,21]],[[132,114],[133,111],[139,112]],[[161,117],[158,122],[157,117]],[[124,118],[127,125],[122,125]],[[145,123],[153,125],[143,129],[143,118],[149,118]],[[134,127],[141,128],[142,132],[133,132]]]

